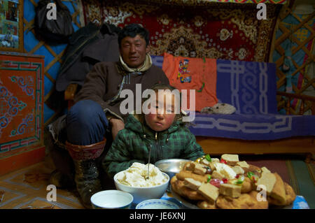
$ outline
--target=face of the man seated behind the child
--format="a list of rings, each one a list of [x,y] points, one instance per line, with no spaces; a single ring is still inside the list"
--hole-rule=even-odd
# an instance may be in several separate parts
[[[133,69],[139,68],[144,63],[149,50],[146,41],[139,35],[126,36],[120,43],[120,55],[123,61]]]

